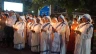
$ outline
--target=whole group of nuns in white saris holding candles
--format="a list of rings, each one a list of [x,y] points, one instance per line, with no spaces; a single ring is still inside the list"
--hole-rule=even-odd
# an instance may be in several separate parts
[[[91,16],[84,14],[83,22],[75,31],[76,41],[74,54],[90,54],[93,26]],[[44,16],[43,18],[29,17],[27,23],[24,17],[13,25],[14,48],[23,49],[27,42],[32,52],[40,54],[66,54],[70,28],[63,15],[58,18]],[[26,32],[25,32],[26,31]]]

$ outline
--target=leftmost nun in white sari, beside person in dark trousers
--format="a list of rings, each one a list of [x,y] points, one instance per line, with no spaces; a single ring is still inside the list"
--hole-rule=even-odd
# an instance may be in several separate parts
[[[24,22],[22,18],[13,26],[14,27],[14,48],[23,49],[25,47],[24,39]]]

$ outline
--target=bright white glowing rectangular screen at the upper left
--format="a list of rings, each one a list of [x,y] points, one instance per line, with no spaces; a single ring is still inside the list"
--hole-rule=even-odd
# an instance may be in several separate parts
[[[4,1],[4,10],[8,10],[8,11],[13,10],[16,12],[23,12],[23,4]]]

